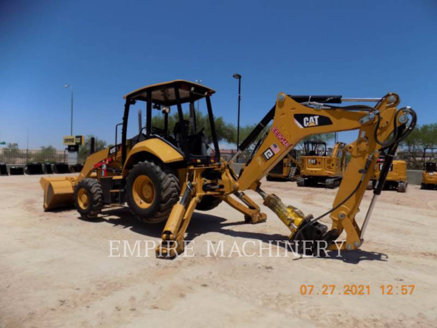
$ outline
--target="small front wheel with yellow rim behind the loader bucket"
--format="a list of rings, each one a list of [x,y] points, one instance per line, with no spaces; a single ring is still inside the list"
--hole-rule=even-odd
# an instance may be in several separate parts
[[[103,191],[100,182],[85,178],[74,189],[74,205],[85,220],[96,220],[103,209]]]

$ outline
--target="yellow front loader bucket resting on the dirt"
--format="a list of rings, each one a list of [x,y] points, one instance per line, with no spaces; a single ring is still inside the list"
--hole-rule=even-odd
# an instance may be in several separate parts
[[[44,210],[74,206],[74,182],[76,177],[41,178],[44,189]]]

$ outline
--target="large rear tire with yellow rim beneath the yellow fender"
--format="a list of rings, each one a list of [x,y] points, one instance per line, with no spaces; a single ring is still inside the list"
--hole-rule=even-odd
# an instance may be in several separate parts
[[[160,167],[152,161],[135,164],[126,178],[126,201],[141,222],[167,220],[179,194],[176,173],[170,167]]]

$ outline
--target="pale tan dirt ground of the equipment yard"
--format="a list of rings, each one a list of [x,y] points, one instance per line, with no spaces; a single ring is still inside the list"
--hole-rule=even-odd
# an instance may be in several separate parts
[[[187,236],[194,257],[162,260],[153,251],[144,257],[145,243],[140,257],[108,256],[110,240],[132,248],[158,241],[162,224],[138,223],[125,208],[106,209],[97,222],[80,220],[75,209],[44,213],[40,177],[0,177],[0,327],[437,326],[436,191],[383,192],[361,249],[341,258],[268,257],[268,250],[259,257],[255,242],[268,247],[288,229],[264,206],[267,222],[251,225],[222,203],[194,214]],[[336,193],[295,182],[263,188],[314,215]],[[370,199],[368,191],[360,223]],[[221,240],[225,256],[205,256],[208,241]],[[234,241],[240,250],[253,241],[246,253],[256,255],[226,256]],[[123,255],[122,246],[113,255]],[[284,255],[281,246],[272,250]],[[300,293],[303,284],[314,286],[311,295]],[[322,294],[323,285],[335,285],[332,295],[332,287]],[[345,295],[344,285],[369,285],[370,295]],[[382,295],[381,285],[386,292],[392,285],[392,295]],[[414,285],[413,293],[402,295],[402,285]]]

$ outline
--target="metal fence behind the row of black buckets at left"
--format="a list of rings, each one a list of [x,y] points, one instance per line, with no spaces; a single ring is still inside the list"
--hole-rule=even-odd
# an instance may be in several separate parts
[[[79,164],[85,162],[84,156],[68,150],[41,149],[10,149],[0,148],[0,163],[29,164],[29,163],[68,163]]]

